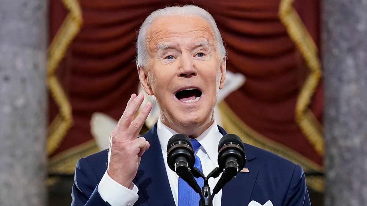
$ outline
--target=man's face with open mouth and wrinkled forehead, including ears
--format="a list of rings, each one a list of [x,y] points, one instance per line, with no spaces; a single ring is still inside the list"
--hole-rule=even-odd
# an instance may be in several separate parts
[[[155,95],[165,125],[196,137],[214,120],[225,82],[209,23],[196,15],[157,18],[146,39],[149,66],[139,69],[143,88]]]

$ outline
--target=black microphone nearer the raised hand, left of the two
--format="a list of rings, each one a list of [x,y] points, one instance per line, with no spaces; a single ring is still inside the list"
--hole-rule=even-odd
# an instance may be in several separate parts
[[[186,181],[195,192],[201,194],[201,188],[191,173],[195,163],[195,153],[188,136],[176,134],[168,140],[167,163],[171,170]]]

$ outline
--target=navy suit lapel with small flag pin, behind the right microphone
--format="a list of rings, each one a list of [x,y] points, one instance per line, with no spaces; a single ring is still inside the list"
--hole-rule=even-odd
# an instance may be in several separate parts
[[[254,164],[256,157],[250,151],[246,151],[246,165],[248,172],[239,172],[222,189],[222,205],[245,205],[250,202],[252,190],[258,175],[258,168]]]

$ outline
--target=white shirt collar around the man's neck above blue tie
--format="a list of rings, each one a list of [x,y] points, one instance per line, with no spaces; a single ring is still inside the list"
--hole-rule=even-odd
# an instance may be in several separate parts
[[[163,151],[167,151],[168,140],[175,134],[177,134],[177,132],[164,125],[159,117],[157,122],[157,135]],[[201,144],[199,150],[207,154],[214,165],[217,164],[218,144],[222,137],[223,135],[219,132],[217,123],[214,119],[213,124],[195,138]]]

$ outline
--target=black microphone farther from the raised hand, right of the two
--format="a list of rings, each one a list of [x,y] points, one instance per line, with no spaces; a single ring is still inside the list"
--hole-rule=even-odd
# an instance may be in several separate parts
[[[223,173],[213,189],[213,195],[217,194],[246,164],[245,148],[240,137],[234,134],[222,137],[218,144],[218,164]]]

